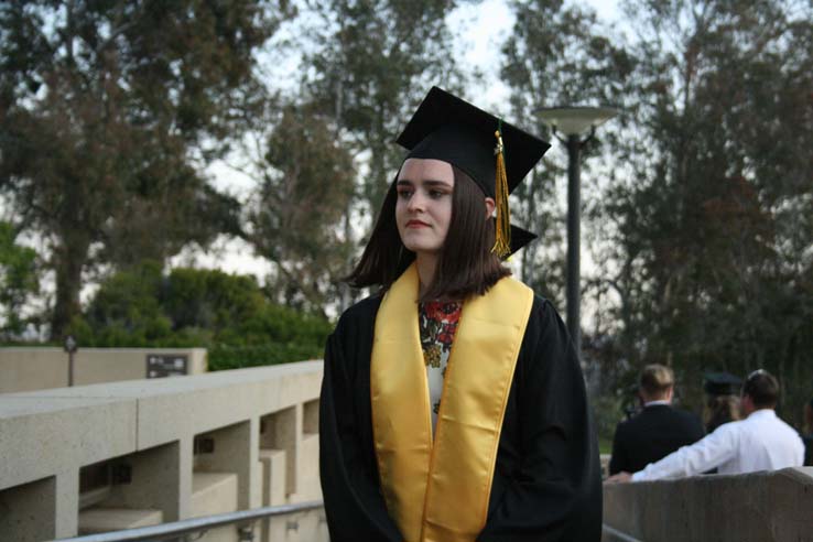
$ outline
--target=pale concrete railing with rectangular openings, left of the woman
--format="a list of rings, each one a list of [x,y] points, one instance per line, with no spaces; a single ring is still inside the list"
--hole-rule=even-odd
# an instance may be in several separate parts
[[[0,395],[0,540],[39,541],[321,498],[322,362]],[[323,512],[256,541],[327,540]],[[202,540],[237,541],[236,527]]]

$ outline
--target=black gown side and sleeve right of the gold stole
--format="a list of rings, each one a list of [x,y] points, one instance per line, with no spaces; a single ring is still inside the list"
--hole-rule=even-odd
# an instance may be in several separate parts
[[[578,357],[562,319],[536,299],[506,410],[478,542],[598,542],[598,445]]]

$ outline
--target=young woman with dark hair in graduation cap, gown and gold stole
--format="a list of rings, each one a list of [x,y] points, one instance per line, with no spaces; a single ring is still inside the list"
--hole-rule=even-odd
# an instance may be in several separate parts
[[[325,350],[330,540],[598,541],[578,358],[550,302],[500,261],[533,237],[509,226],[508,193],[549,145],[436,87],[398,142],[406,160],[350,277],[381,291]]]

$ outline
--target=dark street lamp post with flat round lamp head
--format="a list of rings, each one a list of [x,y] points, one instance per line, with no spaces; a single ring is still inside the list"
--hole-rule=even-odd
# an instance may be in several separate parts
[[[581,153],[585,143],[593,138],[596,128],[615,117],[617,111],[609,107],[554,107],[539,111],[542,122],[548,124],[556,138],[567,145],[567,329],[573,338],[576,354],[582,355],[579,288],[581,259]],[[557,133],[567,139],[562,139]],[[585,137],[586,136],[586,137]],[[583,139],[584,138],[584,139]]]

